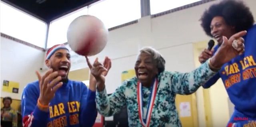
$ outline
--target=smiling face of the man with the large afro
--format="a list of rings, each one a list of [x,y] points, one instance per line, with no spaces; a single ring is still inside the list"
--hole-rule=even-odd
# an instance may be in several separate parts
[[[233,26],[228,26],[222,16],[216,16],[212,18],[210,25],[212,36],[218,41],[218,44],[222,44],[222,36],[230,38],[235,34],[235,28]]]

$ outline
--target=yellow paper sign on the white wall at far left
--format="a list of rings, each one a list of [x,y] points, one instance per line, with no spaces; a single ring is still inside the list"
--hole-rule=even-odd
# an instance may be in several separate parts
[[[4,80],[2,91],[9,93],[18,93],[19,86],[20,84],[18,82]]]

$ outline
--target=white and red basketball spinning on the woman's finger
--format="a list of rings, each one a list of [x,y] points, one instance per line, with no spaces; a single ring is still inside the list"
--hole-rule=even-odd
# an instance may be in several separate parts
[[[79,16],[70,23],[67,40],[71,50],[77,54],[94,56],[105,48],[108,41],[108,29],[95,16]]]

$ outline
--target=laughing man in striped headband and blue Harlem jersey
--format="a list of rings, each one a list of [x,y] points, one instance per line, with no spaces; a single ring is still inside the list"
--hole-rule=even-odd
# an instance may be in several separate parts
[[[71,62],[64,45],[50,48],[45,64],[49,70],[43,76],[36,72],[38,81],[22,93],[24,127],[92,127],[97,116],[95,83],[87,88],[68,79]]]

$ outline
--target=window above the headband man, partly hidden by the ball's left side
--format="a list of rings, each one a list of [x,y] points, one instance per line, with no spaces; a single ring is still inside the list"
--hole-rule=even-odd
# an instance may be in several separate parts
[[[77,17],[86,15],[88,12],[87,6],[66,16],[63,16],[50,23],[47,48],[56,44],[63,44],[67,42],[67,31],[69,24]]]

